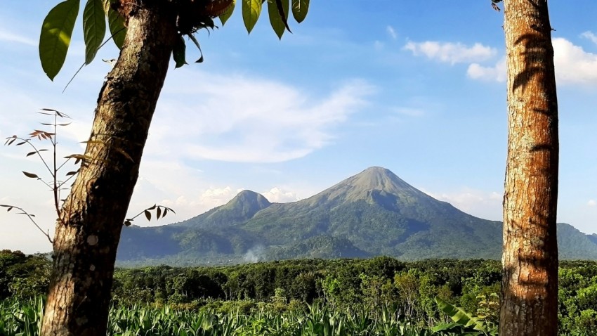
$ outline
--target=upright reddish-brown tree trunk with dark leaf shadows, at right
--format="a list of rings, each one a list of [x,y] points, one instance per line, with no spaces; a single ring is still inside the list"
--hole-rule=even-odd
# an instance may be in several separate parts
[[[508,159],[499,335],[558,335],[558,102],[546,0],[504,0]]]

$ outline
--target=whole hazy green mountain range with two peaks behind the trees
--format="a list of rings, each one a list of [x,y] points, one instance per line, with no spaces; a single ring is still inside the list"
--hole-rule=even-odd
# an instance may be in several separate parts
[[[597,259],[597,235],[558,224],[562,259]],[[370,167],[305,200],[244,190],[221,207],[159,227],[124,228],[128,264],[230,264],[291,258],[501,258],[501,222],[461,212]]]

